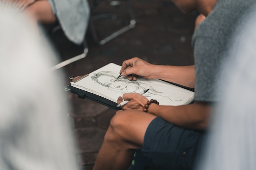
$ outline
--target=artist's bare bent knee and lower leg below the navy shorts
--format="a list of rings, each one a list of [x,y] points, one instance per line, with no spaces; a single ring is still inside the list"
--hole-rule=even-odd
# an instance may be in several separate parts
[[[146,129],[155,115],[123,110],[111,119],[93,170],[126,170],[135,149],[141,148]]]

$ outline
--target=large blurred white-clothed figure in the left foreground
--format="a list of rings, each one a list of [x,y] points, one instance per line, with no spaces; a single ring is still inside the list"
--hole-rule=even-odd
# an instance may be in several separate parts
[[[13,11],[0,4],[0,170],[79,170],[56,56]]]

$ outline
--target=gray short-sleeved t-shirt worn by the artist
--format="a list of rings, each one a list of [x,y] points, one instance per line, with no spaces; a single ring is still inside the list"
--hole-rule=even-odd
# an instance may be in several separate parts
[[[215,93],[222,86],[220,66],[236,27],[255,0],[218,0],[213,11],[198,25],[192,40],[195,57],[195,101],[218,102]]]

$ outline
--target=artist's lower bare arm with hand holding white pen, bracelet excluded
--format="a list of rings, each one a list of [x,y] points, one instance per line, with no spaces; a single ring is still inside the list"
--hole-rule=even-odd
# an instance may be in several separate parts
[[[148,101],[146,97],[137,93],[125,93],[123,98],[124,100],[129,100],[122,107],[124,110],[136,109],[143,111],[144,105]],[[122,102],[123,98],[119,97],[117,103]],[[211,106],[207,102],[195,102],[194,104],[182,106],[161,106],[152,103],[148,107],[148,113],[160,116],[166,121],[182,128],[203,130],[208,126]]]

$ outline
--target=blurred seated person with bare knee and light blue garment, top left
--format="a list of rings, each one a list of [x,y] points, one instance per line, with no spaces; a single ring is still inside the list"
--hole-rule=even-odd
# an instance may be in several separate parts
[[[58,21],[67,38],[81,44],[90,18],[87,0],[0,0],[12,5],[21,13],[31,15],[35,27],[38,23],[52,24]]]

